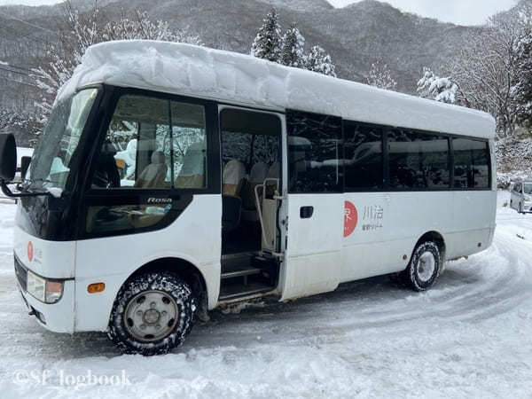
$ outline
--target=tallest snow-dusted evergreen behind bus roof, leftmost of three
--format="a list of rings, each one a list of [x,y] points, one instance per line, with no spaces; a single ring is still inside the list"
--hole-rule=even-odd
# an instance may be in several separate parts
[[[259,59],[279,62],[282,48],[283,39],[278,22],[278,12],[275,8],[272,8],[266,18],[262,20],[262,27],[251,45],[251,55]]]

